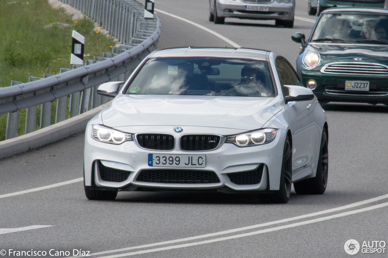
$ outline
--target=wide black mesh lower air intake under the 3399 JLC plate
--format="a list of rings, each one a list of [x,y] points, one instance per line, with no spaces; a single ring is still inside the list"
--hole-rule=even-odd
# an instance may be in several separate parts
[[[165,184],[215,184],[220,179],[213,171],[204,170],[142,170],[136,181]]]

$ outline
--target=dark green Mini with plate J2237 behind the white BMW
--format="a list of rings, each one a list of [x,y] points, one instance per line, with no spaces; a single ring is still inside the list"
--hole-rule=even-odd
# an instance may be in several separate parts
[[[296,60],[303,85],[320,103],[364,102],[388,105],[388,10],[324,10]]]

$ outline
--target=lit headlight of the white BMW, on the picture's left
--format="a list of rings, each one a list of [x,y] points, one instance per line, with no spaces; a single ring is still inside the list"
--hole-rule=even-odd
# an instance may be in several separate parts
[[[99,124],[95,124],[92,127],[92,138],[97,141],[112,144],[121,144],[125,141],[133,141],[132,134],[120,132]]]

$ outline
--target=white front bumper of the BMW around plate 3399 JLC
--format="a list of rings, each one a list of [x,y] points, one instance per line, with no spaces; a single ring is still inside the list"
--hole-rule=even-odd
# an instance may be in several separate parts
[[[169,127],[170,128],[170,127]],[[206,128],[206,127],[205,127]],[[160,131],[156,129],[155,131]],[[186,131],[187,132],[187,131]],[[88,125],[85,135],[85,185],[113,189],[128,189],[132,187],[159,188],[159,189],[220,189],[229,187],[234,191],[264,191],[266,189],[278,190],[281,174],[282,154],[284,147],[285,130],[278,130],[275,139],[264,145],[239,148],[231,143],[224,143],[217,150],[188,152],[181,151],[178,143],[173,151],[145,150],[133,141],[126,141],[120,145],[102,143],[91,137],[92,126]],[[193,132],[194,133],[194,132]],[[195,133],[206,133],[204,131]],[[177,133],[176,139],[179,138]],[[185,168],[185,170],[202,170],[214,172],[219,182],[216,183],[158,183],[140,182],[138,175],[147,170],[179,170],[173,167],[148,166],[148,154],[165,153],[177,155],[206,155],[206,167]],[[122,182],[104,181],[100,176],[98,162],[105,167],[120,169],[130,172],[127,179]],[[228,174],[257,169],[263,167],[262,179],[258,184],[234,184]],[[269,188],[268,187],[269,184]],[[133,189],[133,188],[132,188]]]

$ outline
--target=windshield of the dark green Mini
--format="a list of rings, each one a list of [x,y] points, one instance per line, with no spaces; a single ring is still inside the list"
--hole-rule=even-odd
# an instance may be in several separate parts
[[[323,14],[310,42],[388,44],[388,16]]]

